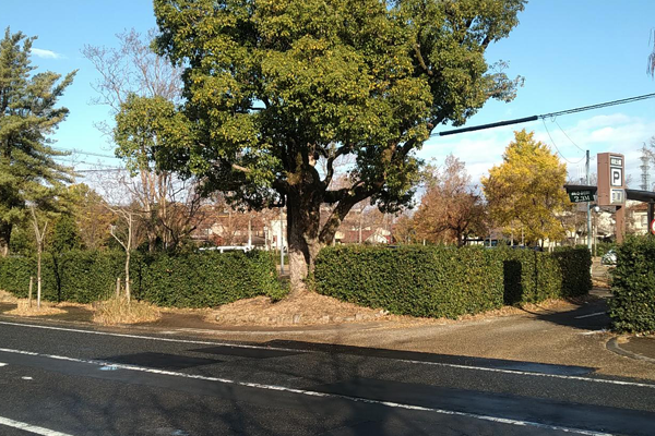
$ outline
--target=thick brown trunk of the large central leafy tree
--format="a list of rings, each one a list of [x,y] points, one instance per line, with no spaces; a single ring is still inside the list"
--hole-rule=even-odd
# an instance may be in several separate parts
[[[307,289],[323,244],[319,242],[320,203],[296,195],[287,197],[287,244],[289,253],[290,296]]]

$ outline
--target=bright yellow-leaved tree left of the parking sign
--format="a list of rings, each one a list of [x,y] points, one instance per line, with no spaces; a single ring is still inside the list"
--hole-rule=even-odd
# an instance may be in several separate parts
[[[525,130],[514,132],[502,158],[481,179],[493,222],[508,234],[523,232],[526,242],[563,239],[560,218],[571,205],[563,189],[567,166]]]

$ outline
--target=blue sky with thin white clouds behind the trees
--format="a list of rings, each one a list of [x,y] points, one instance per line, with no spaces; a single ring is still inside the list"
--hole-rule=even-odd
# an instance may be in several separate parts
[[[57,146],[111,155],[111,145],[93,126],[94,122],[108,118],[108,108],[90,105],[95,96],[91,83],[97,76],[80,50],[85,44],[116,46],[116,34],[131,27],[140,32],[154,27],[151,1],[2,0],[1,10],[2,28],[9,25],[12,32],[38,36],[33,62],[39,70],[62,74],[80,70],[61,100],[71,112],[56,134]],[[466,125],[655,93],[655,82],[646,75],[654,17],[653,0],[531,1],[510,37],[488,50],[489,61],[508,61],[510,75],[525,77],[524,87],[510,104],[487,104]],[[577,177],[582,165],[576,164],[584,157],[581,148],[590,149],[593,156],[603,152],[626,154],[628,173],[633,177],[632,187],[638,187],[639,149],[655,135],[655,99],[562,116],[545,120],[545,124],[537,121],[434,137],[419,155],[442,162],[452,153],[466,162],[477,180],[501,161],[512,132],[525,128],[534,130],[537,137],[551,147],[559,148],[569,160],[571,177]],[[437,130],[448,130],[448,126]],[[85,161],[96,159],[84,158]],[[595,166],[594,160],[592,168]]]

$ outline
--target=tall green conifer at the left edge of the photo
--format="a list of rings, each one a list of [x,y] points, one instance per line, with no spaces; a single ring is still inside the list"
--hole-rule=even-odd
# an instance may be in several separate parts
[[[68,114],[56,108],[75,72],[60,80],[52,72],[33,73],[29,53],[36,37],[4,32],[0,40],[0,255],[9,251],[11,230],[28,219],[26,202],[44,189],[61,191],[71,170],[55,161],[66,155],[48,136]]]

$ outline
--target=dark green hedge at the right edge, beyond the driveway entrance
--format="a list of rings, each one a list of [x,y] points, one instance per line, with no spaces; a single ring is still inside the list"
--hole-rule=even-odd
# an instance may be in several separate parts
[[[620,331],[655,331],[655,238],[632,237],[617,249],[609,316]]]

